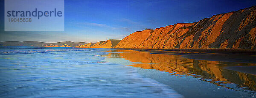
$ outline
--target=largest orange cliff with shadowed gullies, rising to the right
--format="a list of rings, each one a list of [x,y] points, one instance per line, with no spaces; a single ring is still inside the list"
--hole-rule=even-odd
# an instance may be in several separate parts
[[[194,23],[143,30],[115,48],[256,49],[256,6],[214,15]]]

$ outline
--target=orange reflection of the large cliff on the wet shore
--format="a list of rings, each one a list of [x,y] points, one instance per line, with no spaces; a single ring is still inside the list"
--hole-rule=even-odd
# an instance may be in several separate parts
[[[256,75],[225,69],[229,66],[256,66],[250,63],[232,63],[182,58],[175,54],[151,54],[131,50],[110,50],[107,57],[122,57],[135,64],[129,66],[166,71],[176,76],[193,76],[227,89],[223,84],[237,84],[256,90]]]

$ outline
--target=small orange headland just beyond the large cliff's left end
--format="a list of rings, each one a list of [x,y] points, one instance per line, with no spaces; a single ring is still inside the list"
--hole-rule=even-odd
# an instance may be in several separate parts
[[[113,40],[110,39],[108,41],[99,41],[93,46],[90,46],[90,48],[113,48],[116,46],[121,40]]]

